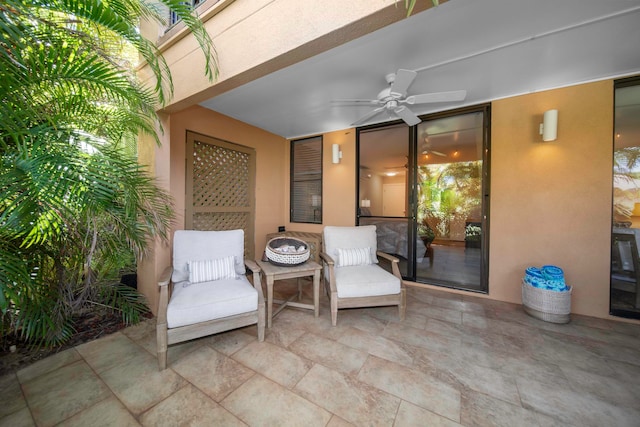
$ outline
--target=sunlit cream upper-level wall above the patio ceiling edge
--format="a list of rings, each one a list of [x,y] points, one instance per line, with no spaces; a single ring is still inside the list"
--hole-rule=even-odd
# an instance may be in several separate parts
[[[416,12],[430,4],[419,1]],[[154,23],[141,25],[145,37],[160,43],[174,76],[175,94],[167,112],[182,110],[406,17],[404,2],[397,0],[220,0],[206,9],[208,5],[205,2],[198,11],[217,50],[220,75],[216,82],[205,77],[203,54],[188,31],[176,28],[163,36],[164,30]],[[148,75],[148,69],[143,67],[140,73]]]

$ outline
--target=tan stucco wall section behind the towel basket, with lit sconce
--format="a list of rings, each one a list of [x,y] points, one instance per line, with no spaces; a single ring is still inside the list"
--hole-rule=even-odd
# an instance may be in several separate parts
[[[558,139],[541,142],[552,108]],[[572,311],[607,317],[613,82],[496,101],[491,132],[489,295],[520,303],[524,269],[555,264],[574,287]]]

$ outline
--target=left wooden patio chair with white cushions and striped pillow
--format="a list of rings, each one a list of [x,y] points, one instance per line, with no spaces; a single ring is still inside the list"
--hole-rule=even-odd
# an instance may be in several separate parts
[[[253,272],[253,285],[245,265]],[[173,266],[158,281],[158,365],[167,367],[167,347],[257,324],[264,341],[265,305],[260,268],[244,259],[244,231],[176,231]]]

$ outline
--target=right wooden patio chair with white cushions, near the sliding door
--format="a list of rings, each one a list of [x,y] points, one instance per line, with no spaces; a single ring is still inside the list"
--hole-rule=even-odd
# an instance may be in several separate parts
[[[320,256],[333,326],[341,308],[397,305],[400,320],[404,320],[406,290],[398,259],[379,252],[376,240],[375,225],[324,228]],[[391,263],[393,274],[378,265],[378,257]]]

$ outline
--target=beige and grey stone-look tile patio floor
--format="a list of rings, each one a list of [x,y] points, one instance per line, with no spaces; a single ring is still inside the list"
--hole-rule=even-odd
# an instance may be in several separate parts
[[[154,320],[0,378],[1,426],[639,426],[640,326],[409,288],[176,345]]]

